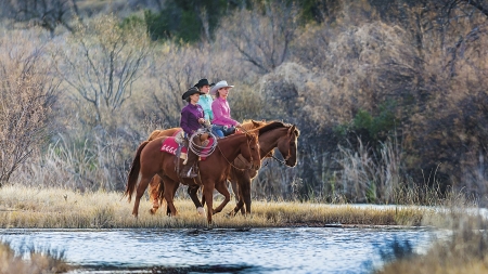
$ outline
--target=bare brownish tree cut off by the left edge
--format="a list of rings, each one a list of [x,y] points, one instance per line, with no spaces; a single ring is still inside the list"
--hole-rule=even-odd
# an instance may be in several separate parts
[[[14,42],[12,42],[14,41]],[[36,41],[0,38],[0,186],[49,134],[48,118],[59,89],[52,62]]]

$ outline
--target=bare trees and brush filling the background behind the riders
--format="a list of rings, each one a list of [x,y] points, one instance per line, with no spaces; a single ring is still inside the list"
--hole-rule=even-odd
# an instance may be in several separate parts
[[[27,12],[41,2],[56,19]],[[269,161],[256,198],[402,203],[411,190],[428,203],[419,186],[486,197],[487,1],[1,5],[2,37],[35,38],[1,41],[3,184],[123,190],[140,142],[178,126],[181,93],[208,78],[235,86],[234,118],[301,131],[298,166]],[[15,109],[38,126],[24,139],[8,128]],[[25,157],[8,159],[12,147]]]

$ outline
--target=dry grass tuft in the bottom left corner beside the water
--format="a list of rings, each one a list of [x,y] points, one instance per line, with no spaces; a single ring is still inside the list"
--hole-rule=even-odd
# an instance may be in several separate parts
[[[62,255],[52,251],[36,251],[30,249],[29,260],[22,258],[22,255],[8,245],[0,243],[0,273],[64,273],[70,268],[63,261]]]

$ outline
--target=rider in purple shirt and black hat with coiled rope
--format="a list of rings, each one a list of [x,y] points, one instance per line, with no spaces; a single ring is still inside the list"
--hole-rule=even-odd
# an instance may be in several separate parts
[[[181,96],[183,100],[189,102],[189,104],[181,109],[180,119],[180,127],[183,129],[187,140],[190,139],[198,129],[203,128],[202,125],[205,123],[204,109],[197,104],[201,94],[203,94],[203,92],[201,92],[196,87],[192,87]],[[196,149],[198,149],[198,147],[204,147],[208,144],[207,139],[208,134],[202,133],[193,138],[192,141],[196,145]],[[190,142],[188,143],[190,144]],[[187,152],[187,161],[180,172],[181,178],[195,178],[198,175],[196,172],[197,159],[198,156],[189,146]]]

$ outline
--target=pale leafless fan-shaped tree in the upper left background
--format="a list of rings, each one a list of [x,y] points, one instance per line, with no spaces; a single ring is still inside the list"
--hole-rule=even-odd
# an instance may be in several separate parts
[[[59,73],[94,112],[94,123],[112,115],[131,95],[132,84],[151,53],[146,32],[140,26],[121,28],[117,18],[102,16],[79,25],[62,49]]]

